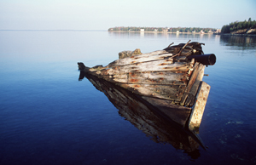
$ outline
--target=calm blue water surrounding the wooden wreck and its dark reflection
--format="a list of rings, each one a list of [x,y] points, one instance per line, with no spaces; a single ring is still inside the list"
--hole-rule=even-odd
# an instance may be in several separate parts
[[[197,156],[156,143],[86,78],[123,50],[206,43],[217,56]],[[108,31],[0,31],[0,164],[255,164],[256,37]],[[172,134],[172,133],[169,133]],[[182,144],[181,144],[182,145]]]

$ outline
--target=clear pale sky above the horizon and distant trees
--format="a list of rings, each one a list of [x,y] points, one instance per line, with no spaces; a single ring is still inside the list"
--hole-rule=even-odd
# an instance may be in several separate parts
[[[256,0],[0,0],[0,30],[212,27],[256,20]]]

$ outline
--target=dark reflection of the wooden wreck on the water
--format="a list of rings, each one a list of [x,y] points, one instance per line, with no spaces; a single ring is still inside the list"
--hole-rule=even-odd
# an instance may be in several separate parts
[[[179,126],[170,118],[163,117],[158,107],[152,105],[154,103],[151,104],[150,101],[144,100],[137,94],[132,94],[125,88],[120,88],[113,83],[80,71],[79,81],[84,77],[108,97],[108,100],[119,110],[119,116],[131,122],[154,142],[170,144],[175,149],[182,150],[192,159],[201,156],[200,146],[206,149],[198,134]]]

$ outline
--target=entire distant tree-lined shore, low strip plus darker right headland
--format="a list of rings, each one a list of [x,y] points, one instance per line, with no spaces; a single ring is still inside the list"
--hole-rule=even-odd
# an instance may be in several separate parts
[[[161,32],[161,33],[214,33],[230,35],[256,35],[256,20],[236,21],[221,29],[201,28],[201,27],[135,27],[135,26],[116,26],[108,31],[127,31],[127,32]]]

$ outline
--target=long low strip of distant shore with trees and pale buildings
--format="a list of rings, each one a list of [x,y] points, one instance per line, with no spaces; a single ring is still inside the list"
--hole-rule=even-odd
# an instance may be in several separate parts
[[[160,32],[215,32],[214,28],[201,28],[201,27],[134,27],[134,26],[117,26],[111,27],[108,31],[160,31]]]

